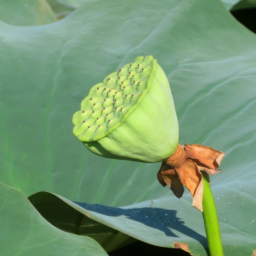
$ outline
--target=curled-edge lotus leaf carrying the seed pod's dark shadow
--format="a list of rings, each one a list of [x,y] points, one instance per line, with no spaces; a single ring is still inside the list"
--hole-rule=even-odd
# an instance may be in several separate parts
[[[241,202],[242,196],[235,196],[240,197],[238,200]],[[127,207],[75,203],[48,192],[36,193],[29,200],[54,226],[71,233],[90,236],[107,252],[129,244],[133,241],[131,237],[134,237],[157,246],[182,248],[191,255],[207,255],[201,213],[197,210],[189,211],[188,218],[188,211],[184,210],[190,204],[187,196],[182,197],[178,203],[169,196]],[[241,211],[246,211],[245,204],[246,207],[254,207],[249,199],[245,199],[239,205]],[[248,232],[252,231],[253,225],[251,213],[244,213],[248,221],[240,221],[234,202],[223,202],[221,209],[223,208],[226,208],[226,219],[221,218],[220,224],[225,255],[251,256],[255,249],[255,231]],[[236,227],[230,221],[230,211],[234,212]]]

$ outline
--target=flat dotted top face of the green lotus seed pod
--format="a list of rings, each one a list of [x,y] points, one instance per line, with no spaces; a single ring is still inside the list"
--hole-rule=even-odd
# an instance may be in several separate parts
[[[74,135],[93,142],[120,126],[150,90],[156,67],[152,56],[139,56],[93,86],[73,116]]]

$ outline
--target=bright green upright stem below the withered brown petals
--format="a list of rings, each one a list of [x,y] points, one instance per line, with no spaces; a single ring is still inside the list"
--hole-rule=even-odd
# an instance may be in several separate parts
[[[224,253],[221,241],[221,231],[219,230],[219,221],[214,199],[212,196],[210,185],[203,172],[202,175],[204,183],[202,214],[210,256],[223,256]]]

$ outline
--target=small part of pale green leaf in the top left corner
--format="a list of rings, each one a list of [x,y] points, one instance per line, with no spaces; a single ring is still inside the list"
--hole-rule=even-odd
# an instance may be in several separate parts
[[[46,0],[0,0],[0,20],[14,26],[39,26],[55,22]]]

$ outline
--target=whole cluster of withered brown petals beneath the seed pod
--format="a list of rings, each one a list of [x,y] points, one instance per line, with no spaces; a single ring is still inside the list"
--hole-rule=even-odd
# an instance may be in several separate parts
[[[193,196],[192,206],[202,212],[203,178],[200,170],[206,172],[205,176],[210,183],[208,174],[221,172],[217,169],[224,155],[221,151],[199,144],[178,145],[176,152],[162,162],[157,174],[158,181],[163,186],[168,185],[178,198],[183,195],[183,185],[187,187]]]

